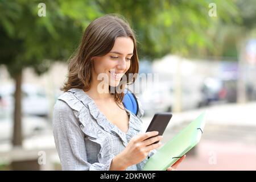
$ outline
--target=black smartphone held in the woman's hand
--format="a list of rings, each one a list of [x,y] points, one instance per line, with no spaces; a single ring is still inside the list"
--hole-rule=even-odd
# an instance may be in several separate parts
[[[164,130],[172,118],[171,113],[155,113],[154,117],[152,118],[150,125],[147,127],[147,131],[158,131],[158,135],[163,135]],[[155,137],[155,136],[154,136]],[[152,138],[152,137],[150,137]],[[149,138],[147,138],[149,139]],[[158,143],[159,141],[155,142]],[[155,144],[152,143],[152,144]]]

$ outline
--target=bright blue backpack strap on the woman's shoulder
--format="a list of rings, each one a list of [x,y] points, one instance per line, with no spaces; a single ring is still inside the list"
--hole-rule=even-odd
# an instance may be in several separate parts
[[[122,102],[127,110],[131,111],[131,113],[135,115],[138,114],[139,105],[138,105],[137,98],[135,97],[133,92],[131,92],[128,89],[125,89],[125,95],[123,96]]]

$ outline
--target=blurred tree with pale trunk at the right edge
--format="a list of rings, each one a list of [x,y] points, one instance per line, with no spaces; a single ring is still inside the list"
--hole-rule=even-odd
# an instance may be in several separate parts
[[[213,42],[218,45],[212,54],[238,60],[237,101],[243,103],[247,100],[245,47],[255,31],[256,2],[236,1],[236,6],[239,16],[232,16],[229,23],[218,22],[212,31]]]

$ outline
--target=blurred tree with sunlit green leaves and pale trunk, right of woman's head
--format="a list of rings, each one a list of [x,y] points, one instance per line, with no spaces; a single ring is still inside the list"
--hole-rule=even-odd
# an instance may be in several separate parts
[[[236,18],[233,1],[104,1],[97,0],[104,13],[119,13],[127,18],[137,32],[138,52],[142,58],[153,60],[168,53],[191,56],[216,49],[210,31],[218,22]],[[209,5],[217,7],[217,16],[209,16]],[[215,51],[216,52],[216,51]],[[181,60],[180,60],[181,61]],[[180,62],[179,61],[179,62]],[[175,76],[175,111],[181,110],[180,66]]]

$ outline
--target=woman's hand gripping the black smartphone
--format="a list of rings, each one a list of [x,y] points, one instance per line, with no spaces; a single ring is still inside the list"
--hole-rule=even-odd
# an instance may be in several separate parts
[[[150,131],[131,138],[125,150],[121,152],[127,167],[142,162],[151,150],[162,145],[161,142],[152,144],[163,138],[162,136],[156,135],[158,135],[158,131]]]

